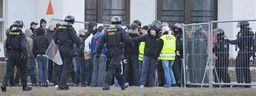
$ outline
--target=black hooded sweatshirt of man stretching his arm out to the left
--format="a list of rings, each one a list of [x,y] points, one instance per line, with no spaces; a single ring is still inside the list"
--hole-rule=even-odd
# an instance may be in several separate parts
[[[156,35],[152,36],[150,34],[150,30],[154,29],[156,31]],[[145,34],[142,37],[132,38],[134,43],[136,42],[145,42],[144,55],[149,58],[155,58],[155,52],[157,47],[157,41],[160,38],[158,28],[156,26],[150,27],[148,34]]]

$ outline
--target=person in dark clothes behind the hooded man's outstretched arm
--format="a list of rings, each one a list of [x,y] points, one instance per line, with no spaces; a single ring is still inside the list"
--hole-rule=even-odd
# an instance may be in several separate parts
[[[140,37],[139,34],[139,25],[133,23],[128,30],[128,34],[131,38]],[[125,59],[127,63],[125,64],[124,69],[124,77],[125,83],[129,83],[130,76],[132,78],[133,85],[139,85],[139,42],[134,43],[134,48],[130,48],[129,46],[125,46]],[[131,85],[131,84],[130,84]]]

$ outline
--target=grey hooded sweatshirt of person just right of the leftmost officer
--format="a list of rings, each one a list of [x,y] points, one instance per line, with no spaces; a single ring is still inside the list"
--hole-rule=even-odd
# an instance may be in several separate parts
[[[28,57],[33,57],[33,40],[32,40],[31,29],[26,29],[25,35],[26,35],[26,39],[27,39]]]

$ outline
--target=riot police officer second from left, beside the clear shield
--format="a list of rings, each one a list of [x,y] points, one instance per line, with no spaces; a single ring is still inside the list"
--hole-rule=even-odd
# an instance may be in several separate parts
[[[58,45],[60,50],[61,59],[63,62],[63,72],[61,74],[61,80],[58,85],[58,90],[68,90],[69,87],[66,84],[70,71],[73,69],[72,58],[73,58],[73,45],[80,46],[81,41],[76,36],[76,31],[72,27],[75,22],[75,17],[67,16],[64,20],[63,26],[58,27],[56,36],[54,38],[55,43]]]

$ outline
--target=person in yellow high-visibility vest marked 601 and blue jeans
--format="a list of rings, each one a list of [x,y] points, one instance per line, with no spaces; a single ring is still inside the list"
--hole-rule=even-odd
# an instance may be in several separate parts
[[[175,59],[175,50],[176,50],[176,38],[170,34],[169,27],[163,27],[162,31],[163,36],[160,37],[158,46],[156,48],[156,57],[162,61],[166,84],[165,88],[170,88],[171,84],[176,84],[174,73],[173,73],[173,62]]]

